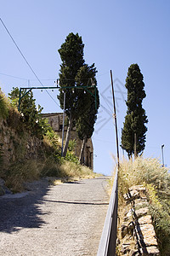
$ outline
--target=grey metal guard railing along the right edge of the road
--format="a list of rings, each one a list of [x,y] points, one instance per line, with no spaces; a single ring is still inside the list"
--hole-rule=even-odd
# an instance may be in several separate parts
[[[118,207],[118,184],[116,170],[111,199],[105,218],[104,229],[99,242],[97,256],[115,256],[116,255],[116,230],[117,230],[117,207]]]

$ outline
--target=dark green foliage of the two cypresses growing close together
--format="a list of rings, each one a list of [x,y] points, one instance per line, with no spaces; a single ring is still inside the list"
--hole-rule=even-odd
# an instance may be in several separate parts
[[[83,59],[83,49],[84,44],[82,44],[82,38],[79,37],[78,33],[75,35],[74,33],[70,33],[65,39],[65,43],[61,45],[59,49],[59,55],[61,57],[62,64],[60,65],[59,71],[59,85],[61,89],[59,90],[59,102],[60,107],[64,108],[64,91],[65,91],[65,113],[69,119],[69,125],[67,130],[67,135],[65,139],[65,148],[64,148],[64,156],[66,155],[66,151],[69,144],[70,132],[73,126],[73,123],[77,123],[77,130],[80,137],[84,137],[85,133],[88,133],[88,137],[94,131],[94,124],[92,122],[93,128],[87,128],[87,124],[83,122],[83,120],[87,119],[87,116],[91,117],[94,114],[94,123],[96,119],[96,113],[92,107],[94,106],[94,98],[90,95],[88,90],[84,90],[83,86],[91,85],[91,79],[93,79],[93,83],[97,84],[95,79],[95,74],[97,73],[94,64],[89,66],[85,64]],[[71,87],[69,89],[65,89],[65,87]],[[82,86],[82,89],[77,88]],[[90,89],[90,92],[94,94],[94,89]],[[99,93],[97,91],[98,102],[99,102]],[[93,98],[93,99],[92,99]],[[99,105],[99,103],[97,103]],[[98,106],[99,108],[99,106]],[[93,114],[92,114],[93,113]],[[82,127],[82,128],[80,128]],[[85,128],[83,128],[85,127]],[[84,130],[84,131],[83,131]],[[82,133],[82,135],[80,135]]]

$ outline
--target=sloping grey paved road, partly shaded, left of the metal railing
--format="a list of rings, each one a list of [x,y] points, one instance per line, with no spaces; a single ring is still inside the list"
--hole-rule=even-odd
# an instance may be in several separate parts
[[[105,223],[106,177],[0,197],[0,255],[96,255]]]

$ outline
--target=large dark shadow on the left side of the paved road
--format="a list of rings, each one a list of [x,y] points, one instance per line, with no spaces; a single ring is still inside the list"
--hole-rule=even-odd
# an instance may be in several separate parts
[[[12,233],[22,228],[40,228],[45,224],[42,216],[49,212],[41,212],[39,205],[48,190],[48,181],[41,180],[23,197],[0,196],[0,231]]]

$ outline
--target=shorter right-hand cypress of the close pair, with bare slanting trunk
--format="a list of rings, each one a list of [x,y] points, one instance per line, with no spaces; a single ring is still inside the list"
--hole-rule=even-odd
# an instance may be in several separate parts
[[[77,86],[85,86],[87,85],[87,81],[90,82],[93,80],[93,84],[97,85],[97,80],[95,78],[97,71],[94,67],[94,64],[90,67],[88,65],[84,65],[81,67],[77,73],[76,82]],[[87,142],[87,139],[92,137],[94,132],[94,124],[97,119],[97,113],[99,108],[99,91],[96,88],[96,99],[94,97],[95,95],[95,89],[94,88],[88,88],[88,90],[93,94],[91,95],[89,91],[81,90],[82,96],[81,101],[79,102],[81,106],[79,106],[80,115],[77,119],[77,135],[82,140],[82,148],[80,152],[79,161],[82,163],[82,157],[83,152],[85,148],[85,144]],[[95,102],[96,100],[96,102]]]

